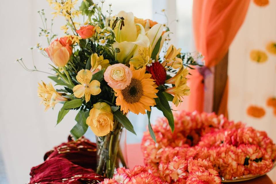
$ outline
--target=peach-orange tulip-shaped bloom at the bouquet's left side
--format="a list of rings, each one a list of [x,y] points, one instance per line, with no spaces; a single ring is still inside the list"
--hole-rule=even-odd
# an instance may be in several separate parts
[[[70,47],[69,44],[63,46],[60,41],[56,39],[46,48],[46,52],[56,66],[63,67],[67,64],[72,54],[72,47]]]

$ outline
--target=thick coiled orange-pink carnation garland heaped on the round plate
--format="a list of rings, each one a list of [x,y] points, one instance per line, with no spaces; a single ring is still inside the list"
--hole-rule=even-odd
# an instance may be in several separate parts
[[[267,173],[276,158],[276,145],[265,132],[228,121],[222,115],[180,111],[174,114],[175,131],[159,118],[152,127],[157,143],[144,133],[142,152],[147,166],[162,170],[175,156],[181,160],[206,159],[221,177]],[[170,182],[168,182],[170,183]]]

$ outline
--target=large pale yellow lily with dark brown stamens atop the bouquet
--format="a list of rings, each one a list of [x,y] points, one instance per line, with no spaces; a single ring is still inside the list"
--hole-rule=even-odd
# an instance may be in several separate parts
[[[135,47],[137,45],[149,47],[150,41],[146,37],[144,27],[141,24],[135,24],[132,12],[120,11],[116,17],[123,17],[124,20],[118,20],[114,26],[115,43],[112,44],[112,47],[120,49],[119,53],[115,53],[115,59],[122,64],[127,64],[133,56]],[[106,26],[112,28],[116,17],[107,19]],[[124,21],[124,26],[122,26],[122,21]],[[140,27],[139,32],[137,32],[136,26]]]

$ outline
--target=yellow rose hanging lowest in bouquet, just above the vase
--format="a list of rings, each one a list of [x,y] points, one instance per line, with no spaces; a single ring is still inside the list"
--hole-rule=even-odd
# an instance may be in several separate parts
[[[86,124],[99,137],[113,131],[114,122],[111,107],[105,102],[94,104],[86,119]]]

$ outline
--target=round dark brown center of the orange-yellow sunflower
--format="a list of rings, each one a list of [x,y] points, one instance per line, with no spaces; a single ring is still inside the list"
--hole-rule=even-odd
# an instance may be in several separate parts
[[[143,95],[143,86],[138,79],[132,78],[130,84],[121,93],[127,103],[133,104]]]

